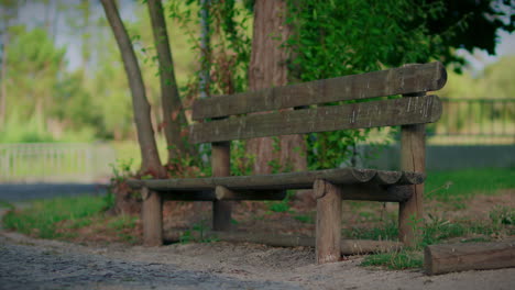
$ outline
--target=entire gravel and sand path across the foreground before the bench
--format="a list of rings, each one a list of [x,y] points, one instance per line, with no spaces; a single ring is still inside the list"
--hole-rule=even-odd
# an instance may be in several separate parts
[[[2,215],[0,209],[0,217]],[[515,289],[515,268],[428,277],[359,267],[360,257],[315,265],[309,248],[255,244],[83,246],[0,227],[1,289]]]

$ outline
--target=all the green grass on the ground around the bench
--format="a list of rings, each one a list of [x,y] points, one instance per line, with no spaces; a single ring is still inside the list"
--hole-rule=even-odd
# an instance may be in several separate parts
[[[426,198],[438,207],[439,211],[467,210],[467,201],[476,194],[496,194],[500,189],[515,188],[514,169],[470,169],[458,171],[429,172],[426,182]],[[10,211],[3,219],[8,228],[21,233],[44,238],[77,238],[84,234],[83,228],[92,228],[92,234],[110,235],[116,241],[138,243],[138,234],[134,227],[138,217],[120,215],[108,217],[103,210],[112,205],[113,197],[74,197],[57,198],[53,200],[34,201],[31,207],[15,210],[9,202],[0,201],[0,208]],[[289,196],[283,201],[266,202],[267,213],[289,213],[293,219],[310,224],[314,223],[311,214],[295,213],[291,209]],[[396,239],[398,235],[397,216],[392,212],[385,212],[380,216],[381,210],[377,203],[350,202],[353,211],[358,212],[359,220],[364,223],[373,223],[375,226],[346,228],[342,235],[358,239]],[[375,204],[376,208],[373,208]],[[429,203],[431,204],[431,203]],[[440,208],[445,205],[445,208]],[[374,210],[375,209],[375,210]],[[375,214],[375,215],[374,215]],[[258,216],[255,216],[258,219]],[[428,214],[421,236],[415,248],[385,254],[369,255],[362,266],[383,266],[388,269],[406,269],[421,267],[421,249],[431,244],[442,243],[449,239],[458,239],[462,243],[487,242],[497,237],[515,235],[515,209],[500,204],[487,212],[487,220],[454,219],[446,220]],[[238,223],[233,221],[233,223]],[[209,242],[204,238],[207,225],[196,224],[190,231],[185,232],[180,242],[187,243]],[[88,237],[85,237],[88,238]]]

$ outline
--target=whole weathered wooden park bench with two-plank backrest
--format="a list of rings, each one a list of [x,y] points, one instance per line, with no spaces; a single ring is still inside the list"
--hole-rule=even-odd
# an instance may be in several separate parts
[[[190,142],[211,143],[212,177],[130,180],[131,187],[142,188],[144,243],[162,244],[163,199],[212,201],[213,228],[226,231],[232,200],[281,200],[287,189],[313,188],[317,263],[340,258],[341,200],[398,202],[399,239],[413,244],[412,223],[423,212],[424,124],[436,122],[442,110],[438,97],[426,92],[446,80],[443,66],[430,63],[197,100],[193,119],[199,122],[190,126]],[[395,94],[403,98],[377,98]],[[372,100],[360,102],[365,99]],[[353,100],[358,102],[324,105]],[[232,140],[396,125],[402,126],[402,171],[336,168],[230,176]]]

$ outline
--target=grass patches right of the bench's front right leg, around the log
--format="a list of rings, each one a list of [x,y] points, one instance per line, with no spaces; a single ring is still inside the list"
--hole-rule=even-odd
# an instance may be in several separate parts
[[[451,210],[467,210],[467,201],[474,196],[497,194],[502,189],[515,188],[515,169],[467,169],[428,172],[425,199],[443,202]],[[441,203],[440,203],[441,205]],[[420,228],[421,236],[415,248],[394,253],[374,254],[364,258],[362,266],[383,266],[388,269],[420,268],[421,249],[427,245],[460,238],[462,243],[489,242],[500,236],[515,235],[515,209],[496,205],[489,212],[490,220],[449,221],[428,215]],[[346,230],[352,238],[388,239],[398,233],[396,216],[382,226]]]

